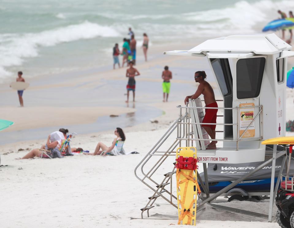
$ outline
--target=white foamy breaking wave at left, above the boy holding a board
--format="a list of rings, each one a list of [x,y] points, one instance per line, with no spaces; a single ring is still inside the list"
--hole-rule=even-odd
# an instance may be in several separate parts
[[[5,68],[21,65],[24,58],[38,56],[40,47],[95,37],[117,37],[120,34],[111,27],[85,21],[39,33],[0,35],[0,78],[11,75]]]

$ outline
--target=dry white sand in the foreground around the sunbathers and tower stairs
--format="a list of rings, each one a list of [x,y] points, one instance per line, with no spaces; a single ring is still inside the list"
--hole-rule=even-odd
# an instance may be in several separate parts
[[[178,102],[176,102],[178,103]],[[177,209],[162,199],[150,210],[149,219],[140,218],[140,208],[152,195],[134,176],[134,167],[165,133],[177,112],[174,105],[161,105],[169,115],[158,123],[144,123],[125,129],[127,152],[120,156],[74,155],[62,159],[15,160],[44,140],[7,144],[0,149],[1,209],[3,227],[170,227],[177,224]],[[113,133],[74,136],[72,146],[93,151],[97,142],[110,144]],[[18,151],[23,148],[24,151]],[[170,167],[166,167],[166,172]],[[200,165],[201,170],[201,165]],[[266,214],[269,200],[232,201],[219,197],[218,203]],[[223,202],[223,203],[221,203]],[[276,211],[276,208],[274,208]],[[274,213],[275,213],[274,211]],[[146,212],[145,212],[146,213]],[[144,214],[146,218],[146,214]],[[279,227],[266,219],[219,211],[206,206],[197,213],[197,227]],[[184,226],[182,226],[184,227]]]

